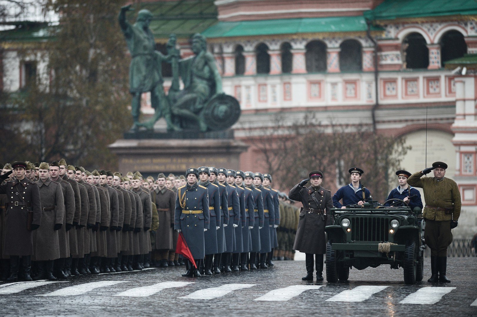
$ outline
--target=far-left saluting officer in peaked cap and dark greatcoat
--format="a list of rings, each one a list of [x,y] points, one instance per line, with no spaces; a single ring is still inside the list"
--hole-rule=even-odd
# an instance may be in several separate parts
[[[30,280],[31,255],[33,254],[33,234],[31,230],[36,230],[41,223],[41,202],[40,190],[31,180],[25,178],[25,162],[14,162],[11,164],[16,179],[0,185],[0,194],[7,194],[8,202],[5,205],[7,215],[5,218],[5,255],[10,256],[10,276],[9,282],[16,282],[20,257],[24,279]],[[7,172],[1,175],[5,180],[10,175]],[[33,220],[28,223],[28,213],[33,213]],[[30,228],[28,228],[30,227]],[[29,230],[30,229],[30,230]]]

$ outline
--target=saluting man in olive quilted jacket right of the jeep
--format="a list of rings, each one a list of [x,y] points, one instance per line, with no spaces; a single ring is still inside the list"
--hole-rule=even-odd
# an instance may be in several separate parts
[[[447,270],[447,247],[452,242],[451,229],[457,227],[462,205],[456,182],[446,178],[447,164],[434,162],[432,167],[411,175],[407,182],[424,189],[425,219],[424,239],[431,248],[431,278],[428,282],[445,282]],[[424,175],[434,170],[434,177]]]

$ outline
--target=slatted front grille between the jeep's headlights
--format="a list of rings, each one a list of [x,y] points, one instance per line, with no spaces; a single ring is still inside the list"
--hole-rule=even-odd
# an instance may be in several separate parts
[[[389,219],[382,217],[351,218],[351,240],[388,242]]]

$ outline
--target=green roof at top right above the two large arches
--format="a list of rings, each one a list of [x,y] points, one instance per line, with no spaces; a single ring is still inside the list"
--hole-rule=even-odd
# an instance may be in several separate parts
[[[384,0],[373,10],[365,11],[370,20],[394,20],[477,14],[475,0]]]

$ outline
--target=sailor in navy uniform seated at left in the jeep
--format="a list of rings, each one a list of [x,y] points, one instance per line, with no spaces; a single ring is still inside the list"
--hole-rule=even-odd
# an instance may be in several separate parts
[[[335,208],[345,209],[346,206],[356,204],[362,206],[365,201],[373,199],[368,188],[361,185],[361,176],[364,174],[363,169],[353,167],[348,172],[351,175],[351,183],[338,189],[333,195],[333,205]],[[343,204],[340,203],[341,199]]]

